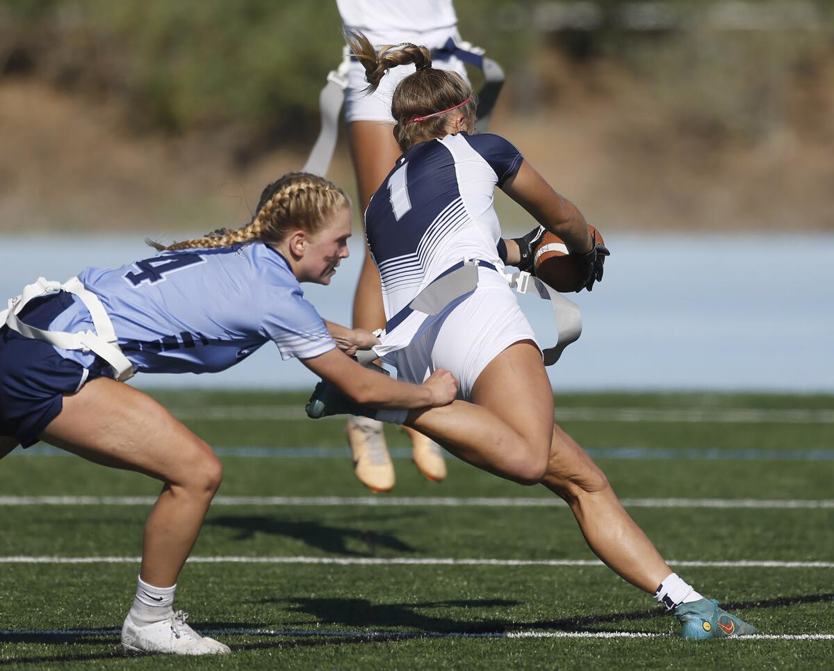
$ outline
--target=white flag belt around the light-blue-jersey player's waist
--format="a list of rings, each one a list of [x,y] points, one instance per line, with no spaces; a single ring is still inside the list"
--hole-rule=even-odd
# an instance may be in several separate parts
[[[81,299],[84,307],[87,308],[93,318],[95,331],[85,330],[79,333],[68,333],[62,330],[36,329],[34,326],[24,324],[23,321],[18,319],[21,310],[30,300],[58,291],[67,291]],[[113,331],[113,323],[110,321],[107,310],[104,310],[104,306],[101,300],[98,300],[97,295],[84,288],[78,277],[73,277],[63,284],[39,277],[37,282],[24,287],[21,295],[9,299],[8,310],[0,312],[0,324],[3,323],[10,329],[17,331],[21,336],[48,342],[62,350],[92,351],[108,362],[113,369],[113,376],[120,382],[133,377],[133,366],[128,361],[128,357],[124,356],[119,349],[118,339],[115,331]]]

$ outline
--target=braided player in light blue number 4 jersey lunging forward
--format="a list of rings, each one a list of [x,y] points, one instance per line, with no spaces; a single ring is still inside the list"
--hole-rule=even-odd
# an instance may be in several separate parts
[[[63,285],[38,280],[0,317],[0,458],[42,440],[163,482],[145,525],[142,568],[122,645],[134,653],[228,653],[173,611],[174,589],[223,469],[211,447],[150,396],[134,372],[214,372],[274,341],[284,359],[379,408],[440,406],[445,371],[393,381],[345,353],[378,342],[325,322],[300,282],[327,285],[348,255],[350,203],[310,174],[269,184],[252,221]],[[379,411],[384,415],[384,410]]]

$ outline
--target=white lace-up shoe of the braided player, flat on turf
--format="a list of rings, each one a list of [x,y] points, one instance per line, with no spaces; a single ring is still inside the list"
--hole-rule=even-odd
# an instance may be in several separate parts
[[[228,645],[214,638],[200,636],[185,623],[188,613],[178,610],[168,618],[144,627],[128,617],[122,625],[122,648],[125,653],[227,654]]]

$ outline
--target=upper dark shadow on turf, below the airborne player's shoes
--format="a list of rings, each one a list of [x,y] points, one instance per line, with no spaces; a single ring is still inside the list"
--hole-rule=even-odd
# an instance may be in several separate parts
[[[375,549],[384,548],[396,552],[414,552],[414,547],[399,540],[390,533],[368,531],[366,529],[351,529],[346,527],[330,527],[321,522],[305,522],[298,520],[281,520],[275,517],[211,517],[206,520],[207,527],[225,527],[238,530],[236,541],[246,541],[256,533],[266,533],[274,536],[294,538],[316,547],[324,552],[350,557],[374,557]],[[364,543],[367,552],[349,549],[349,540]]]

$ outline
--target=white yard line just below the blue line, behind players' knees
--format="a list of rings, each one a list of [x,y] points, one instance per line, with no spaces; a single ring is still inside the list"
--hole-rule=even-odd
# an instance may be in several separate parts
[[[156,497],[0,497],[0,506],[152,506]],[[816,510],[832,499],[622,498],[630,508]],[[214,506],[565,507],[558,497],[214,497]]]

